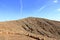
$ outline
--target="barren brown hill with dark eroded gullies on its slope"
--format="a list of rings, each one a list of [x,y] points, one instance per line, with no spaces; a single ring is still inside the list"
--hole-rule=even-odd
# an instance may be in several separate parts
[[[60,22],[35,17],[0,22],[0,40],[60,40]]]

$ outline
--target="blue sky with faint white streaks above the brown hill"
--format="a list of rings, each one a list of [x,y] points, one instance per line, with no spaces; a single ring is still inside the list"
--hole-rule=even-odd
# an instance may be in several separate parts
[[[60,0],[0,0],[0,21],[25,17],[60,20]]]

